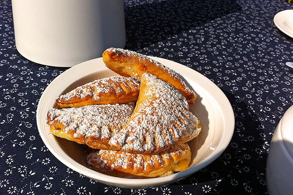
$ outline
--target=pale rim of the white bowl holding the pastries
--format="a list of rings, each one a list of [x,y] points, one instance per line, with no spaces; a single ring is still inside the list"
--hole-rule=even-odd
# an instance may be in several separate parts
[[[157,60],[157,61],[162,60],[162,58],[158,58],[158,57],[153,57],[153,56],[149,56],[149,57],[154,60]],[[92,60],[89,60],[86,62],[82,62],[76,66],[71,67],[70,69],[67,69],[66,71],[61,73],[59,76],[57,76],[51,83],[56,82],[56,80],[58,78],[63,77],[64,75],[67,75],[71,71],[74,71],[75,69],[79,69],[80,66],[83,66],[84,64],[89,63],[91,61],[95,61],[97,59],[101,59],[101,58],[96,58],[96,59],[92,59]],[[209,165],[210,163],[212,163],[216,158],[219,157],[220,154],[222,154],[222,152],[226,149],[226,147],[228,146],[228,144],[230,143],[230,141],[232,139],[233,132],[234,132],[234,125],[235,125],[235,118],[234,118],[232,106],[231,106],[229,100],[227,99],[227,97],[225,96],[225,94],[222,92],[222,90],[220,90],[220,88],[217,87],[207,77],[205,77],[201,73],[198,73],[197,71],[195,71],[187,66],[184,66],[182,64],[179,64],[177,62],[167,60],[167,59],[163,59],[163,60],[168,61],[173,64],[176,64],[176,66],[180,66],[180,69],[185,70],[185,71],[187,70],[187,71],[195,74],[195,76],[199,77],[209,87],[211,87],[210,89],[205,89],[205,90],[208,90],[208,91],[212,90],[212,91],[216,91],[217,93],[219,93],[218,94],[219,97],[217,97],[217,98],[221,100],[218,103],[219,103],[220,108],[222,108],[222,112],[223,112],[222,114],[223,114],[223,122],[224,122],[224,127],[223,127],[224,131],[223,131],[222,137],[219,141],[219,144],[217,145],[217,147],[215,147],[215,150],[212,151],[212,153],[209,154],[209,156],[207,158],[202,160],[197,165],[186,169],[185,171],[178,172],[178,173],[175,173],[170,176],[157,177],[157,178],[147,178],[147,179],[128,179],[128,178],[119,178],[119,177],[115,177],[115,176],[109,176],[109,175],[106,175],[103,173],[93,171],[93,170],[86,168],[85,166],[79,164],[78,162],[76,162],[74,160],[72,160],[72,162],[68,161],[66,159],[66,157],[67,158],[68,157],[71,158],[71,157],[68,154],[66,154],[64,151],[63,151],[62,155],[58,154],[58,152],[55,150],[55,148],[53,146],[51,146],[50,143],[47,142],[47,140],[45,138],[45,136],[47,136],[47,135],[45,135],[44,133],[42,133],[39,130],[40,136],[41,136],[43,142],[45,143],[46,147],[48,147],[49,151],[59,161],[61,161],[64,165],[73,169],[74,171],[81,173],[85,176],[88,176],[92,179],[99,180],[102,183],[108,183],[108,184],[116,183],[119,186],[130,186],[131,184],[133,184],[133,186],[158,186],[160,184],[163,185],[164,183],[172,183],[172,182],[180,180],[182,178],[186,178],[187,176],[190,176],[191,174],[197,172],[198,170],[200,170],[200,169],[204,168],[205,166]],[[168,66],[168,64],[166,64],[166,63],[165,63],[165,65]],[[43,94],[45,94],[47,89],[48,88],[46,88],[44,90]],[[38,129],[40,129],[40,127],[41,127],[40,119],[39,119],[39,115],[40,115],[39,105],[42,103],[42,99],[44,98],[43,94],[39,100],[38,108],[37,108],[37,112],[36,112],[36,120],[37,120]]]

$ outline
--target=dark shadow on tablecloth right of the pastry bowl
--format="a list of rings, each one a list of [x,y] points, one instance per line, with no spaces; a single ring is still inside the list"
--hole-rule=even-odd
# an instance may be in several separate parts
[[[193,191],[203,191],[206,188],[204,185],[209,185],[216,194],[243,194],[250,187],[265,193],[267,189],[264,174],[269,144],[260,138],[264,127],[249,105],[235,95],[223,92],[235,115],[235,129],[229,146],[210,165],[171,185],[190,185]],[[239,185],[243,191],[239,191]]]

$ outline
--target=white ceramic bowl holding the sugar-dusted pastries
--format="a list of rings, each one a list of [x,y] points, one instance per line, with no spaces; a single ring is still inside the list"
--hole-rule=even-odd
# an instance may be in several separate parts
[[[234,130],[234,114],[224,93],[200,73],[170,60],[151,57],[175,70],[190,88],[197,93],[194,105],[190,105],[201,122],[198,137],[188,142],[192,156],[187,170],[170,176],[151,179],[126,179],[108,176],[83,166],[85,146],[49,134],[47,112],[57,105],[55,99],[75,87],[90,81],[117,75],[108,69],[102,58],[74,66],[56,77],[45,89],[37,109],[37,125],[45,145],[52,154],[69,168],[98,182],[126,188],[162,186],[179,181],[214,161],[228,146]]]

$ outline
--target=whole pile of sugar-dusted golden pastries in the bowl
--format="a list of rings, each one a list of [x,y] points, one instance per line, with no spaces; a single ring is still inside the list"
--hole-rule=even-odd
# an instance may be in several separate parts
[[[103,61],[121,76],[58,97],[62,109],[49,110],[50,132],[93,148],[87,163],[107,175],[151,178],[186,170],[186,142],[201,131],[189,111],[196,94],[173,70],[145,55],[109,48]]]

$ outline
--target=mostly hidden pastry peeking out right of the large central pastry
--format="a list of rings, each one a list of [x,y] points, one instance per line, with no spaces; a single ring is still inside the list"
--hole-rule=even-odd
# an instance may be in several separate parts
[[[186,143],[192,140],[194,137],[197,137],[201,132],[201,125],[196,116],[189,112],[189,122],[186,130],[183,133],[183,136],[179,139],[177,144]]]

